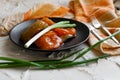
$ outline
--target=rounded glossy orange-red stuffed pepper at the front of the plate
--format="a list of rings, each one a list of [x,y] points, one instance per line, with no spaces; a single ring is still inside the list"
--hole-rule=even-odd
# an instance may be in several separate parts
[[[62,43],[62,39],[54,31],[47,32],[35,41],[36,46],[43,50],[56,49]]]

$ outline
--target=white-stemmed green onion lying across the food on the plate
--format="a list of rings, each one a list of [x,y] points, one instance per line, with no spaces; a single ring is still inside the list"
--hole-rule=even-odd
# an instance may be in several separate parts
[[[58,23],[55,23],[44,30],[40,31],[38,34],[36,34],[33,38],[31,38],[26,44],[24,45],[25,48],[28,48],[32,43],[34,43],[39,37],[47,33],[48,31],[54,29],[54,28],[66,28],[66,27],[75,27],[76,24],[70,24],[69,21],[61,21]]]

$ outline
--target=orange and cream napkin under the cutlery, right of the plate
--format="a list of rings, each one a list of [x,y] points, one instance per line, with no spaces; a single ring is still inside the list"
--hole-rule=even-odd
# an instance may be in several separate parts
[[[116,20],[118,15],[115,13],[113,0],[74,0],[74,13],[75,19],[84,23],[91,23],[91,17],[93,16],[96,17],[102,25],[105,25],[106,23],[107,26],[113,26],[115,25],[115,22],[116,25],[119,22],[119,20]],[[115,27],[109,28],[112,33],[116,31],[115,29]],[[108,36],[102,29],[99,29],[96,32],[103,38]],[[119,35],[120,34],[117,36]],[[117,38],[120,40],[119,37]],[[93,45],[98,42],[98,39],[91,34],[88,42],[90,45]],[[108,43],[103,42],[95,49],[106,54],[120,54],[120,45],[117,45],[112,39],[109,39],[106,42]]]

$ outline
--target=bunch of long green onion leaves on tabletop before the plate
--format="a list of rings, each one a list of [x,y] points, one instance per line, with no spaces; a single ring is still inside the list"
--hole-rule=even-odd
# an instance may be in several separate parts
[[[120,33],[120,31],[114,33],[112,36],[115,36],[116,34]],[[92,45],[88,49],[83,50],[81,52],[81,49],[69,54],[68,56],[65,56],[64,58],[58,59],[58,60],[39,60],[39,61],[28,61],[28,60],[22,60],[22,59],[16,59],[16,58],[9,58],[9,57],[0,57],[0,60],[8,61],[8,62],[1,62],[0,63],[0,68],[10,68],[10,67],[28,67],[28,66],[33,66],[37,67],[39,69],[59,69],[59,68],[67,68],[67,67],[72,67],[75,65],[80,65],[80,64],[85,64],[85,63],[90,63],[90,62],[96,62],[99,59],[107,58],[110,55],[104,54],[102,56],[92,58],[89,60],[83,60],[83,61],[78,61],[76,62],[75,60],[82,57],[85,55],[88,51],[92,50],[94,47],[99,45],[100,43],[104,42],[105,40],[111,38],[112,36],[109,36],[103,40],[100,40],[96,44]],[[66,61],[65,59],[78,54],[79,55],[74,59],[74,60],[68,60]]]

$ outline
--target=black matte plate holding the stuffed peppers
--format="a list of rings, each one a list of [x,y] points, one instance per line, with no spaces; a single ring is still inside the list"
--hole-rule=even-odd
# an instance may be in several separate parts
[[[64,43],[64,45],[61,45],[60,48],[55,49],[55,50],[41,50],[34,45],[31,45],[27,49],[39,50],[39,51],[61,51],[61,50],[67,50],[67,49],[70,49],[73,47],[77,47],[80,44],[84,43],[88,39],[90,31],[89,31],[89,28],[85,24],[78,22],[78,21],[75,21],[75,20],[72,20],[72,19],[66,19],[66,18],[51,18],[51,19],[54,22],[70,21],[71,23],[75,23],[77,25],[75,27],[76,31],[77,31],[76,37],[66,41]],[[24,48],[24,43],[20,40],[21,33],[26,28],[28,28],[31,24],[33,24],[35,21],[36,21],[36,19],[29,20],[29,21],[25,21],[25,22],[22,22],[20,24],[17,24],[16,26],[14,26],[14,28],[10,31],[10,34],[9,34],[10,40],[13,43],[15,43],[16,45]],[[26,48],[24,48],[24,49],[26,49]]]

